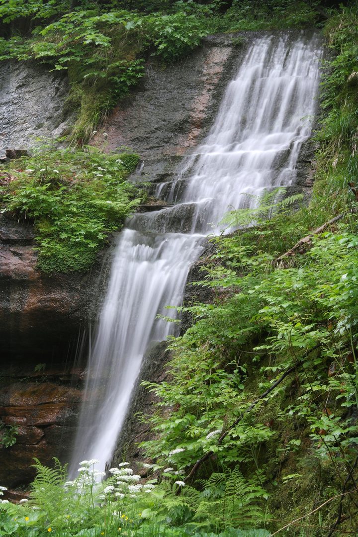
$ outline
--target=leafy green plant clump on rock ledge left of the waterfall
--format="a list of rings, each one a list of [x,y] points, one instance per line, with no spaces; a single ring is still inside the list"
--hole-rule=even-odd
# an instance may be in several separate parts
[[[138,204],[126,181],[138,155],[53,151],[10,164],[13,181],[0,193],[2,212],[34,223],[43,272],[85,271],[110,231]]]

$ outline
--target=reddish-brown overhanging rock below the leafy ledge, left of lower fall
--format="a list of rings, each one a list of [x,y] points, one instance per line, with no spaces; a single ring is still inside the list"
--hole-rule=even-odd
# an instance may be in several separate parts
[[[0,215],[0,345],[12,360],[69,358],[81,326],[96,318],[103,296],[101,264],[90,273],[43,274],[36,269],[32,226]],[[73,357],[72,357],[73,358]]]

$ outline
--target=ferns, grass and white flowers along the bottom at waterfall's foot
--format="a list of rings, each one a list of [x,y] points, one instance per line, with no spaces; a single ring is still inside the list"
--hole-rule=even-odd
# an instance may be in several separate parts
[[[250,490],[250,483],[244,483],[237,473],[228,476],[227,484],[223,475],[213,476],[199,500],[202,512],[198,509],[195,514],[192,504],[199,493],[194,489],[188,487],[191,490],[178,498],[174,494],[176,484],[173,487],[167,482],[141,484],[140,476],[133,475],[128,463],[112,468],[112,477],[101,483],[104,473],[94,469],[97,462],[82,461],[79,476],[67,481],[66,468],[57,459],[53,469],[36,460],[38,475],[32,484],[30,499],[22,500],[20,505],[0,500],[0,535],[185,537],[195,532],[197,537],[203,534],[215,537],[217,532],[210,534],[209,528],[223,527],[225,524],[220,520],[217,523],[223,516],[227,525],[219,533],[220,537],[269,535],[264,529],[235,530],[228,524],[233,514],[246,516],[259,511],[250,507],[252,499],[258,496],[257,488]],[[6,489],[1,487],[1,494],[2,490]],[[216,510],[209,515],[213,524],[192,522],[195,517],[206,517],[209,505]]]

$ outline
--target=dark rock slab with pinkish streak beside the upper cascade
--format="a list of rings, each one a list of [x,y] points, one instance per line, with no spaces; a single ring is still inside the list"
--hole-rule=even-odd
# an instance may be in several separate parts
[[[259,35],[242,34],[242,47],[233,46],[234,34],[218,34],[172,66],[148,62],[140,88],[120,101],[103,126],[107,136],[98,133],[92,143],[107,151],[137,151],[144,163],[138,180],[170,181],[182,157],[208,133],[238,59]]]

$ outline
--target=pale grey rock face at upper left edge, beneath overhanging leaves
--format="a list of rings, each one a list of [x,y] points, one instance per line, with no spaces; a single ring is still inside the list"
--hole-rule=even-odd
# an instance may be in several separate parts
[[[0,157],[5,149],[29,149],[43,137],[60,136],[63,101],[69,92],[67,75],[33,63],[1,62]],[[61,125],[62,124],[62,125]]]

